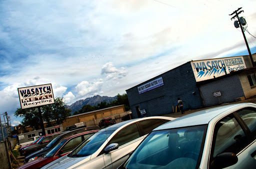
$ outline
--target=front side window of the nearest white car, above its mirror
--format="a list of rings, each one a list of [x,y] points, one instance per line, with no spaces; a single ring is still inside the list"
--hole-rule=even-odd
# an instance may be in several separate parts
[[[233,115],[216,123],[214,129],[213,158],[221,153],[237,154],[248,144],[248,139]]]

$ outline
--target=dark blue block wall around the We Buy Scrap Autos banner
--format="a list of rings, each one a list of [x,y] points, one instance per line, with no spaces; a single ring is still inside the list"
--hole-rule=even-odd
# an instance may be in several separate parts
[[[159,77],[162,77],[163,86],[142,94],[138,93],[138,86]],[[193,92],[194,94],[192,94]],[[136,106],[140,110],[145,109],[146,116],[159,116],[172,113],[172,106],[175,107],[177,105],[178,97],[183,101],[185,110],[200,108],[202,106],[190,62],[127,89],[126,93],[134,118],[138,117]]]

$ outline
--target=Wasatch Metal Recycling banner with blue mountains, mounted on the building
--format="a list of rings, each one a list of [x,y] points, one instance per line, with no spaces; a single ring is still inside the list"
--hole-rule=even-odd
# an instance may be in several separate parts
[[[245,69],[243,57],[190,61],[196,82],[229,74],[231,71]]]

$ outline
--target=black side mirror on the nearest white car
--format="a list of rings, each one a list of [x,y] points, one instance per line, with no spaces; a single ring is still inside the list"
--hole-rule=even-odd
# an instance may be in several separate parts
[[[221,153],[210,164],[211,169],[223,169],[236,164],[238,158],[233,153]]]

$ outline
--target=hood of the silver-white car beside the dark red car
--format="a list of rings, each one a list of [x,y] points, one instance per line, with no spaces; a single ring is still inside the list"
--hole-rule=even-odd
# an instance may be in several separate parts
[[[48,165],[44,166],[41,169],[71,169],[79,164],[87,162],[90,160],[90,156],[86,157],[78,157],[78,158],[70,158],[67,156],[63,156]],[[75,166],[73,166],[75,165]]]

